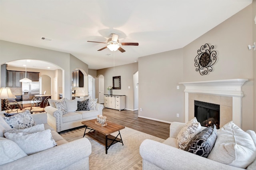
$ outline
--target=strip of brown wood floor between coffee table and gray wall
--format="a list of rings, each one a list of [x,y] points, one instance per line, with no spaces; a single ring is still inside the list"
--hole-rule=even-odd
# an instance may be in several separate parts
[[[128,128],[144,132],[156,136],[158,138],[167,139],[170,134],[170,124],[158,122],[155,120],[138,118],[138,110],[115,110],[104,108],[102,110],[103,116],[107,116],[107,120],[116,124],[121,124]]]

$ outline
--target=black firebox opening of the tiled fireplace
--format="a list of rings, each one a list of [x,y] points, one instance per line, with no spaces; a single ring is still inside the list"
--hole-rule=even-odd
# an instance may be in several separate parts
[[[194,100],[195,117],[201,126],[220,128],[220,105]]]

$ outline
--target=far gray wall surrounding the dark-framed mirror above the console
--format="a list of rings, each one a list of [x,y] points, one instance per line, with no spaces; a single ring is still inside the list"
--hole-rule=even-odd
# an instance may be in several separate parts
[[[122,66],[115,66],[115,68],[104,68],[97,70],[97,75],[104,76],[104,92],[107,94],[107,87],[113,86],[113,76],[121,76],[121,89],[113,90],[113,94],[126,95],[126,109],[134,110],[133,103],[133,74],[138,71],[138,63],[126,64]],[[128,89],[130,86],[130,89]]]

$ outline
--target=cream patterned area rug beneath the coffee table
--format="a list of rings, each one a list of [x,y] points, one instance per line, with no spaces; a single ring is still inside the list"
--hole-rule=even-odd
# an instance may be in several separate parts
[[[79,128],[69,132],[61,133],[61,136],[68,142],[83,137],[85,128]],[[116,136],[118,132],[113,133]],[[120,130],[122,143],[110,146],[108,154],[105,154],[105,146],[99,144],[88,136],[92,144],[92,154],[89,157],[90,170],[142,170],[142,158],[140,156],[140,144],[145,139],[163,142],[164,139],[139,132],[131,128]]]

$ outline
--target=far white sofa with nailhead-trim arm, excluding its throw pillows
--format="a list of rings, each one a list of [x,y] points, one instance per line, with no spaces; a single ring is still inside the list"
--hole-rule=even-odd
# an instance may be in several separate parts
[[[66,100],[67,107],[68,107],[68,113],[66,114],[63,114],[61,110],[58,110],[53,106],[47,106],[45,108],[45,111],[47,113],[48,124],[52,128],[54,128],[56,132],[62,132],[64,130],[83,126],[81,122],[86,120],[96,119],[97,115],[102,114],[102,110],[104,108],[103,104],[96,103],[95,110],[76,111],[76,108],[77,108],[76,105],[77,105],[78,99],[76,100],[64,99],[64,100]]]

